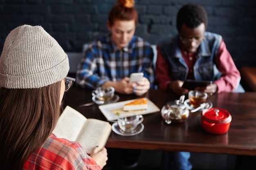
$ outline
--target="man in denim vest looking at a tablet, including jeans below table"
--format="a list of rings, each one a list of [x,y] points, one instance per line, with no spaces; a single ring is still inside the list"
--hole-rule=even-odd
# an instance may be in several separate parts
[[[195,4],[183,6],[177,14],[178,35],[157,45],[156,76],[159,89],[185,95],[187,79],[212,81],[200,88],[209,95],[237,88],[240,73],[222,37],[206,32],[207,13]],[[216,69],[217,68],[217,69]],[[163,152],[162,169],[191,170],[189,152]]]

